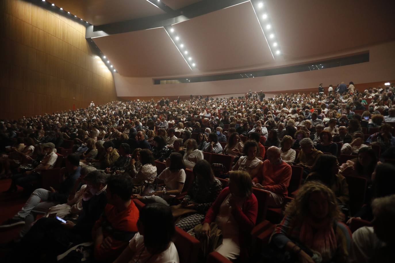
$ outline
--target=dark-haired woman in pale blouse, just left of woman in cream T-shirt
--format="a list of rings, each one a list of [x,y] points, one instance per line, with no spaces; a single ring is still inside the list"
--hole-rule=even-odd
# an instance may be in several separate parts
[[[156,178],[156,166],[154,161],[154,155],[149,149],[142,149],[140,151],[140,162],[141,168],[139,171],[135,168],[136,160],[130,161],[130,176],[133,178],[133,184],[135,186],[143,185],[144,181],[154,181]]]

